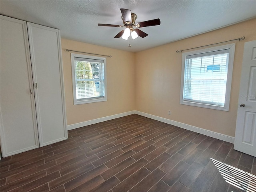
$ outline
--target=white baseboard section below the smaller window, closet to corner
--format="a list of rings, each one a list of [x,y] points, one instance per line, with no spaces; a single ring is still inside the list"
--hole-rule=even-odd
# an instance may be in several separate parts
[[[84,122],[80,122],[80,123],[76,123],[76,124],[71,124],[71,125],[68,125],[68,130],[72,130],[72,129],[76,129],[76,128],[80,128],[80,127],[84,127],[84,126],[88,126],[88,125],[92,125],[92,124],[96,124],[96,123],[100,123],[100,122],[104,122],[104,121],[108,121],[108,120],[112,120],[112,119],[116,119],[116,118],[120,118],[120,117],[124,117],[124,116],[128,116],[128,115],[132,115],[132,114],[136,114],[135,111],[128,111],[128,112],[124,112],[124,113],[120,113],[120,114],[116,114],[116,115],[110,115],[110,116],[101,117],[98,119],[88,120],[88,121],[84,121]]]

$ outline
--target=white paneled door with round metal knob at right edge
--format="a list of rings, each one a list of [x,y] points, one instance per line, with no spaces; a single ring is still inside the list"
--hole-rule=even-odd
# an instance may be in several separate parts
[[[244,44],[234,149],[256,156],[256,40]]]

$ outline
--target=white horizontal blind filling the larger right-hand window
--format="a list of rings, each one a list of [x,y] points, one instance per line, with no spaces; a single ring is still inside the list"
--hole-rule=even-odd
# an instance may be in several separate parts
[[[183,101],[224,107],[229,51],[186,56]]]

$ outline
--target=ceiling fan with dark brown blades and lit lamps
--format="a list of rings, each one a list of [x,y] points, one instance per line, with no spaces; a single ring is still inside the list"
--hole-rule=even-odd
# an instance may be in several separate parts
[[[155,26],[160,25],[160,19],[153,19],[148,20],[144,22],[138,22],[135,24],[137,15],[135,13],[132,13],[131,10],[128,9],[120,9],[122,13],[122,20],[124,25],[113,25],[113,24],[101,24],[99,23],[98,26],[107,26],[107,27],[124,27],[125,30],[120,31],[114,38],[119,38],[122,36],[122,39],[128,40],[128,37],[132,36],[132,39],[136,39],[138,36],[144,38],[148,36],[145,32],[142,30],[139,30],[137,28],[141,27],[148,27],[148,26]],[[134,27],[137,27],[134,29]],[[130,44],[129,44],[130,46]]]

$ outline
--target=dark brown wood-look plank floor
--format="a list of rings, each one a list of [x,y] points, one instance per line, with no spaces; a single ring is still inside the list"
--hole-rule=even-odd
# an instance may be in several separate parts
[[[231,143],[136,114],[2,158],[0,171],[1,192],[256,191],[256,158]]]

